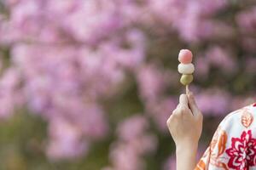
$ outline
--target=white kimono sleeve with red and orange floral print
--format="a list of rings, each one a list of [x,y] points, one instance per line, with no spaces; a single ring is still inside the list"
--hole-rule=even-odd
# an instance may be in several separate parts
[[[256,104],[226,116],[195,170],[256,170],[254,116]]]

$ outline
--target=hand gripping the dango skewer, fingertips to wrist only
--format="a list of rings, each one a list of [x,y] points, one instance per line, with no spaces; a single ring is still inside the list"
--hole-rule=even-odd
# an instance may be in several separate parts
[[[177,108],[167,120],[167,126],[176,146],[194,146],[201,137],[203,116],[194,95],[181,94]]]

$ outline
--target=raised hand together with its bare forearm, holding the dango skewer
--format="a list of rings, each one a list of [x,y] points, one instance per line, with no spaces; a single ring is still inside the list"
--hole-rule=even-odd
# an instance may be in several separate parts
[[[201,136],[203,116],[195,104],[194,95],[181,94],[179,104],[167,121],[176,144],[177,170],[192,170]]]

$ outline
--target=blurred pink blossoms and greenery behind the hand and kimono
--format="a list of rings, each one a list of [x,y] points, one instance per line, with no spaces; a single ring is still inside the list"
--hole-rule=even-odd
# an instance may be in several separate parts
[[[182,48],[201,156],[255,99],[254,0],[0,0],[0,169],[175,169]]]

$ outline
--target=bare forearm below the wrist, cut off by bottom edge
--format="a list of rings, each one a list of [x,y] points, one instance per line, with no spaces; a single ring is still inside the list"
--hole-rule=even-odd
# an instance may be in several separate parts
[[[176,147],[177,170],[193,170],[198,144],[180,144]]]

